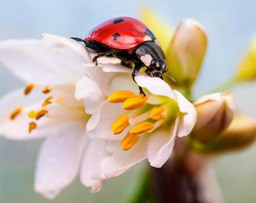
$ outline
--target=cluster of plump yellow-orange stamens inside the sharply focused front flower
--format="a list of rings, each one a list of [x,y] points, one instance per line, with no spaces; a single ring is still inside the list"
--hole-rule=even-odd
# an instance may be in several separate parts
[[[123,90],[110,94],[107,99],[110,103],[122,103],[122,109],[128,112],[123,113],[110,126],[115,135],[130,127],[121,141],[125,151],[138,142],[142,133],[152,132],[166,120],[166,105],[163,102],[152,105],[148,99],[149,97],[143,94],[135,95],[134,92]]]

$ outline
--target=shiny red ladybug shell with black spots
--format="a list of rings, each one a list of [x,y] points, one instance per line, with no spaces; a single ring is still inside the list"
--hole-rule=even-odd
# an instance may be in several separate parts
[[[154,34],[145,24],[130,17],[112,18],[96,26],[86,42],[97,41],[118,50],[130,50],[146,41],[154,41]]]

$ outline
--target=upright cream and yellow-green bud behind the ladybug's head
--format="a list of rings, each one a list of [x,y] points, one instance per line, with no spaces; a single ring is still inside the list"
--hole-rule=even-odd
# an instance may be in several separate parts
[[[169,74],[176,85],[190,88],[202,65],[207,38],[202,26],[193,19],[180,22],[166,53]]]

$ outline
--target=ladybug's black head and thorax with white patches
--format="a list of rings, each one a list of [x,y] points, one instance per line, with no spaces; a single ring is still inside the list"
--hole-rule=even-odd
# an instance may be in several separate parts
[[[163,74],[167,72],[166,57],[157,42],[144,42],[135,53],[138,60],[146,66],[146,73],[150,77],[163,78]]]

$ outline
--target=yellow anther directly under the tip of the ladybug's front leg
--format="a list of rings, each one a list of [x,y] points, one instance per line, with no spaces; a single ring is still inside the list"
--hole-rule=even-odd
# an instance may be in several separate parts
[[[126,109],[126,110],[138,109],[143,105],[146,105],[147,99],[148,97],[144,96],[143,94],[140,94],[134,98],[128,98],[126,99],[125,102],[123,102],[122,109]]]

